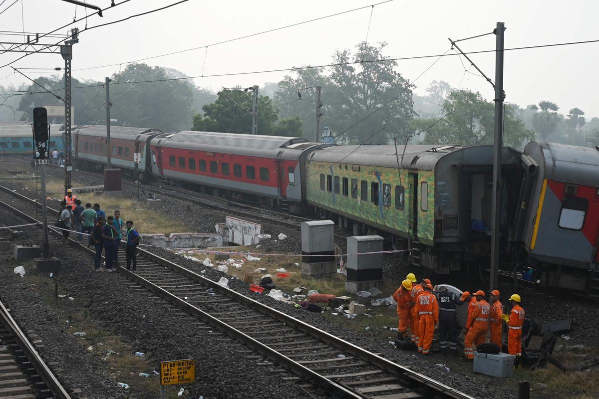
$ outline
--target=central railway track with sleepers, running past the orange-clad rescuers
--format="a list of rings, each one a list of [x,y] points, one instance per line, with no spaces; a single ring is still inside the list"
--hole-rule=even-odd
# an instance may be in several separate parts
[[[40,213],[34,200],[2,186],[0,201],[28,221]],[[49,209],[49,214],[56,211]],[[257,366],[291,371],[295,375],[282,378],[300,386],[316,384],[343,398],[473,399],[144,249],[139,250],[137,273],[122,267],[119,272],[131,281],[132,290],[223,331],[270,359]]]

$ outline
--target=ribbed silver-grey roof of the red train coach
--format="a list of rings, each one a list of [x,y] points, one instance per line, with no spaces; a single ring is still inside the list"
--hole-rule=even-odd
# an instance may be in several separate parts
[[[241,133],[195,132],[184,130],[162,141],[165,147],[185,148],[223,153],[257,155],[281,148],[297,148],[312,145],[303,138],[285,136],[246,135]]]

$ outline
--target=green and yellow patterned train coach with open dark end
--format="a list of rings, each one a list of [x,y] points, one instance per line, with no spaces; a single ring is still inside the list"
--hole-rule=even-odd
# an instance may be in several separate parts
[[[519,191],[521,153],[503,148],[501,230]],[[437,273],[488,257],[491,145],[344,145],[307,157],[306,200],[354,235],[379,234]]]

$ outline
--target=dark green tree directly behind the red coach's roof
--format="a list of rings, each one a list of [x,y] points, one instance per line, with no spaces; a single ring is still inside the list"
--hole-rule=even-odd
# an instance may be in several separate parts
[[[246,90],[222,90],[211,104],[202,107],[204,115],[193,116],[192,130],[202,132],[252,133],[252,93]],[[258,134],[301,135],[299,118],[278,120],[273,102],[258,98]]]

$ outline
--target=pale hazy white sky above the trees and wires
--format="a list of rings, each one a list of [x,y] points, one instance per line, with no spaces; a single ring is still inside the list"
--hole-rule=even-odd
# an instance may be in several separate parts
[[[116,0],[117,3],[120,1]],[[13,0],[5,2],[0,11],[12,2]],[[88,2],[102,8],[110,5],[110,0]],[[174,2],[176,0],[132,0],[128,4],[105,11],[103,18],[90,17],[87,23],[88,26],[99,25]],[[376,1],[190,0],[164,11],[81,33],[80,42],[74,45],[73,76],[103,81],[105,76],[118,71],[119,66],[84,71],[77,69],[123,63],[204,46],[374,2]],[[599,39],[598,11],[599,2],[591,0],[570,3],[553,0],[395,0],[374,7],[368,41],[388,42],[386,55],[391,57],[441,54],[449,48],[447,38],[458,39],[491,32],[498,21],[506,23],[506,48],[592,40]],[[204,74],[329,63],[335,50],[353,48],[366,38],[370,13],[371,9],[366,8],[282,31],[209,47]],[[74,14],[75,5],[60,0],[19,0],[0,15],[0,30],[22,32],[24,24],[25,31],[46,33],[71,22]],[[77,17],[83,15],[84,9],[78,7]],[[83,29],[85,21],[72,26]],[[57,33],[66,33],[69,28]],[[23,38],[0,35],[0,40],[23,41]],[[50,39],[44,38],[43,42],[48,43]],[[495,48],[495,36],[484,36],[458,45],[464,51],[492,50]],[[525,106],[540,100],[552,100],[565,114],[570,108],[577,106],[585,111],[588,118],[599,116],[598,50],[599,42],[507,51],[504,76],[506,101]],[[196,76],[202,75],[204,53],[205,49],[202,48],[146,62]],[[0,54],[0,65],[21,55]],[[472,57],[485,74],[491,78],[495,77],[494,53],[474,54]],[[432,60],[399,61],[398,70],[405,78],[413,81]],[[60,56],[54,54],[34,54],[14,63],[14,66],[53,68],[63,66],[63,61]],[[474,69],[471,71],[476,72]],[[0,68],[0,84],[19,84],[26,81],[25,78],[11,72],[10,67]],[[26,72],[32,78],[40,75],[39,71]],[[285,72],[276,72],[198,78],[195,79],[195,83],[217,90],[222,86],[261,86],[265,82],[279,81],[284,75]],[[463,75],[464,68],[458,57],[444,57],[416,82],[416,93],[422,94],[432,80],[444,80],[458,87]],[[487,99],[492,99],[494,95],[492,87],[485,80],[470,74],[464,77],[462,88],[479,90]],[[323,100],[326,102],[326,93],[323,93]]]

